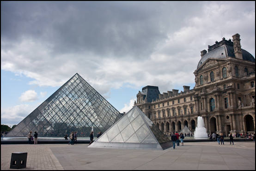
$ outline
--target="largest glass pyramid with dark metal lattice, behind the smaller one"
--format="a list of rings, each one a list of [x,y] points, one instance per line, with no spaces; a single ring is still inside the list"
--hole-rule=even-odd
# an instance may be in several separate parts
[[[78,131],[89,137],[109,129],[122,114],[92,88],[78,73],[24,118],[6,136],[65,136]]]

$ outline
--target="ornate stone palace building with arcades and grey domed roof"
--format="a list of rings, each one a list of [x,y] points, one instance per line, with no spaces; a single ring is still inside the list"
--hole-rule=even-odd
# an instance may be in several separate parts
[[[161,94],[157,86],[146,86],[136,105],[166,134],[185,125],[195,131],[198,116],[208,134],[255,133],[255,58],[241,48],[239,34],[232,39],[201,51],[193,89]]]

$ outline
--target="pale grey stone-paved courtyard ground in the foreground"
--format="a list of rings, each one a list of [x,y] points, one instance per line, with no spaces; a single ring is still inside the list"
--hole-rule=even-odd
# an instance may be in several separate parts
[[[166,150],[87,148],[88,144],[1,145],[1,170],[11,153],[28,152],[21,170],[255,170],[255,142],[186,142]]]

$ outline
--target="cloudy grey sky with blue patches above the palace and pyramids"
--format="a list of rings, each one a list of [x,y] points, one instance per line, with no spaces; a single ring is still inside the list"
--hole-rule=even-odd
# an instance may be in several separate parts
[[[75,73],[120,112],[147,85],[192,89],[200,51],[236,33],[255,57],[255,1],[1,1],[1,124]]]

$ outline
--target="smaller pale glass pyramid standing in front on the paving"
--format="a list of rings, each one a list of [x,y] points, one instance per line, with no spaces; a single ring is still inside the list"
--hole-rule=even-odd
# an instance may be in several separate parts
[[[163,150],[172,146],[152,121],[134,106],[88,147],[143,148]]]

